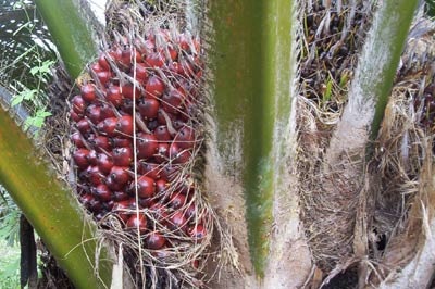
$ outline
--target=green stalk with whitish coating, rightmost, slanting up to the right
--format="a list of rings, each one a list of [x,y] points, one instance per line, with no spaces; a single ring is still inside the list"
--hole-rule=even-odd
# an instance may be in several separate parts
[[[336,136],[338,147],[365,147],[377,136],[385,106],[399,66],[405,41],[418,0],[387,0],[380,3],[358,61],[355,79]],[[348,135],[358,141],[346,141]],[[360,135],[359,135],[360,134]],[[337,144],[332,141],[332,148]],[[369,155],[371,149],[369,148]]]

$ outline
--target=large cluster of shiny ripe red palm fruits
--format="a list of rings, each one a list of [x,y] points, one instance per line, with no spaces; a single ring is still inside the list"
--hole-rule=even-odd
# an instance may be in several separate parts
[[[79,201],[146,235],[149,249],[165,246],[162,230],[200,240],[195,188],[181,178],[198,146],[199,42],[166,29],[132,42],[102,52],[71,100]]]

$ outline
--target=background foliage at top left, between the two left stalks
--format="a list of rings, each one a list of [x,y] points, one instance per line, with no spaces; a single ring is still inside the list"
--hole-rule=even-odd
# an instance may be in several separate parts
[[[57,61],[47,27],[32,1],[0,1],[0,86],[14,93],[11,105],[28,112],[24,128],[40,128],[46,117],[51,68]]]

